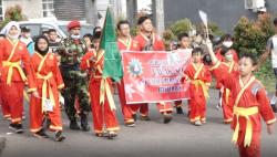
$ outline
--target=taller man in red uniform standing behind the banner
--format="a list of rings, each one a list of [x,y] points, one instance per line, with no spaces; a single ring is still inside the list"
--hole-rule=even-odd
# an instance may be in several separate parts
[[[137,21],[137,25],[140,28],[140,33],[136,35],[135,40],[138,42],[140,51],[165,51],[163,40],[156,33],[154,33],[154,28],[150,17],[141,17]],[[143,109],[144,113],[142,114],[141,119],[150,119],[147,104],[142,106],[145,108]],[[157,103],[157,108],[164,116],[164,123],[170,123],[172,121],[173,112],[171,103]]]

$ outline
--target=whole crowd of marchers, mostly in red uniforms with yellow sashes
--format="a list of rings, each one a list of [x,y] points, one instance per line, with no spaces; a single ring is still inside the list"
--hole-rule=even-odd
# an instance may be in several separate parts
[[[274,24],[277,34],[277,19]],[[115,83],[102,76],[105,51],[100,48],[101,28],[96,27],[92,34],[80,36],[81,27],[79,21],[71,21],[66,39],[59,39],[57,31],[50,29],[33,42],[29,28],[20,28],[14,21],[8,23],[6,34],[0,38],[0,94],[2,114],[10,119],[10,129],[23,133],[23,95],[27,86],[30,94],[30,130],[40,138],[48,138],[45,129],[50,129],[54,132],[57,142],[65,139],[62,134],[61,104],[64,104],[70,129],[89,132],[88,116],[91,112],[95,136],[110,139],[116,137],[120,126],[114,109],[114,87],[119,92],[125,126],[136,126],[138,118],[151,121],[148,104],[126,103],[123,80]],[[120,51],[165,51],[164,42],[155,33],[150,17],[141,17],[137,28],[137,35],[131,36],[130,23],[126,20],[119,21],[116,30]],[[183,80],[189,82],[189,122],[195,126],[206,123],[206,101],[214,76],[220,100],[217,107],[223,108],[224,123],[232,124],[233,142],[238,145],[240,156],[259,156],[260,117],[271,134],[276,121],[274,112],[277,92],[269,102],[265,87],[253,75],[257,59],[244,52],[239,52],[238,59],[237,52],[232,49],[233,42],[229,34],[217,39],[181,33],[178,42],[173,42],[170,51],[177,53],[179,51],[175,50],[183,50],[192,56],[182,74]],[[276,35],[269,39],[264,57],[270,53],[277,75]],[[174,107],[177,114],[184,114],[182,104],[182,100],[156,102],[165,124],[173,119]]]

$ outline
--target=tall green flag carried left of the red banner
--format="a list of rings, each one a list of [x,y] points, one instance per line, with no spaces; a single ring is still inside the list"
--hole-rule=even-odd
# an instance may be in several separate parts
[[[110,8],[106,10],[100,48],[104,50],[103,76],[119,82],[123,76],[121,54],[117,48],[114,22]]]

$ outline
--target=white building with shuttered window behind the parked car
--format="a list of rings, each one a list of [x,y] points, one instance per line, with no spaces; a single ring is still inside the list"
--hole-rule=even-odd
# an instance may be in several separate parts
[[[18,4],[27,19],[75,19],[101,25],[111,2],[119,3],[117,0],[0,0],[0,20],[3,20],[4,11],[9,7]]]

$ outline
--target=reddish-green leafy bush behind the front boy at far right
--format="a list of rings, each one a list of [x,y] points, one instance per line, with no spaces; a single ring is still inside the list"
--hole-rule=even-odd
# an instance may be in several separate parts
[[[273,34],[274,27],[268,14],[259,15],[255,21],[243,17],[234,29],[234,49],[239,53],[254,53],[259,57],[265,52],[266,42]],[[270,60],[261,64],[255,75],[264,83],[267,91],[274,92],[275,76]]]

